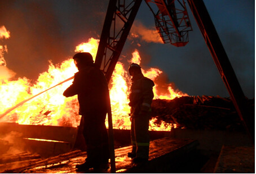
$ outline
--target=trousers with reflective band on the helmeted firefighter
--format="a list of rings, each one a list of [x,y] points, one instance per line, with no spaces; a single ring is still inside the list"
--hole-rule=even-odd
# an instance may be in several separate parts
[[[131,118],[131,153],[136,157],[148,159],[149,155],[149,113]]]

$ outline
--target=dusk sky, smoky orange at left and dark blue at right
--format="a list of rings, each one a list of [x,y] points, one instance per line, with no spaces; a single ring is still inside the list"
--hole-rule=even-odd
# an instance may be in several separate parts
[[[246,97],[254,98],[255,35],[254,1],[204,1],[220,40],[235,70]],[[7,67],[15,77],[36,80],[48,69],[48,60],[61,63],[74,54],[76,45],[91,37],[100,38],[108,1],[68,0],[2,0],[0,26],[10,31],[9,39],[0,40],[7,45],[4,54]],[[185,47],[171,44],[127,40],[122,56],[131,57],[138,49],[142,67],[158,67],[164,71],[169,83],[189,95],[220,95],[228,92],[211,58],[208,47],[187,5],[193,31]],[[136,24],[155,28],[155,21],[145,2],[135,19]],[[126,63],[126,59],[121,62]]]

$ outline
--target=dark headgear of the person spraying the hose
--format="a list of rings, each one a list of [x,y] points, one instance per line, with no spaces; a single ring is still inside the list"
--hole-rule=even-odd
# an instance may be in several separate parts
[[[87,52],[76,53],[73,59],[76,66],[93,65],[94,63],[91,54]]]

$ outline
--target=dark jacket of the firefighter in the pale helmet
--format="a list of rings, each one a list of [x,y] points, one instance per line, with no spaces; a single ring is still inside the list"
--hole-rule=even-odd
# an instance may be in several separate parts
[[[136,74],[133,76],[130,88],[130,103],[131,117],[138,117],[143,112],[151,111],[151,103],[154,97],[153,86],[155,84],[152,80],[144,77],[143,74]]]

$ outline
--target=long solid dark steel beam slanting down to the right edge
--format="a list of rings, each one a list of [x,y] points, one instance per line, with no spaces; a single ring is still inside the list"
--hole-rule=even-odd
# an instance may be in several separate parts
[[[220,42],[218,33],[213,25],[213,22],[211,21],[205,4],[202,0],[187,1],[193,16],[196,19],[197,25],[205,39],[206,45],[209,48],[211,56],[214,59],[215,65],[219,70],[220,76],[222,77],[228,93],[231,96],[236,111],[254,143],[255,117],[249,114],[249,110],[246,106],[245,95],[241,89],[239,81],[237,80],[235,72],[233,71],[231,63],[229,62],[226,51]]]

